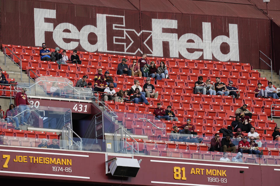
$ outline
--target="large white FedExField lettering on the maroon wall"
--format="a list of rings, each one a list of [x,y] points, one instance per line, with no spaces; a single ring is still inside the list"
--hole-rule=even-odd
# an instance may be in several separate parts
[[[118,19],[118,24],[108,24],[108,17]],[[80,44],[81,47],[88,52],[102,52],[102,53],[123,53],[128,55],[135,55],[137,52],[147,53],[149,56],[164,57],[164,43],[168,43],[170,58],[178,58],[179,54],[186,59],[198,59],[203,57],[206,60],[212,60],[213,56],[220,61],[239,61],[239,42],[238,42],[238,28],[237,24],[228,24],[228,35],[218,35],[212,38],[211,23],[201,22],[202,37],[195,33],[185,33],[178,35],[178,33],[164,32],[164,29],[178,28],[177,20],[173,19],[152,19],[151,30],[136,30],[125,25],[125,16],[122,15],[108,15],[96,14],[96,26],[85,25],[80,30],[71,23],[62,22],[54,27],[53,23],[45,21],[45,18],[56,19],[56,10],[34,8],[34,36],[35,45],[41,46],[43,42],[47,42],[45,32],[53,33],[54,42],[62,49],[73,50]],[[121,24],[120,24],[121,23]],[[108,35],[107,29],[121,32],[122,36]],[[68,30],[68,32],[65,32]],[[69,32],[70,31],[70,32]],[[97,42],[91,44],[88,40],[89,34],[94,33],[97,36]],[[133,33],[137,37],[131,37]],[[145,46],[147,51],[141,51],[138,45],[136,48],[131,46],[140,40],[140,35],[145,33],[148,35],[143,38],[141,43]],[[113,40],[112,40],[112,39]],[[64,42],[63,39],[75,40],[71,42]],[[125,40],[125,42],[124,42]],[[148,42],[150,40],[151,42]],[[111,50],[108,43],[120,45],[121,50]],[[227,43],[229,52],[222,53],[221,44]],[[188,49],[192,49],[189,52]]]

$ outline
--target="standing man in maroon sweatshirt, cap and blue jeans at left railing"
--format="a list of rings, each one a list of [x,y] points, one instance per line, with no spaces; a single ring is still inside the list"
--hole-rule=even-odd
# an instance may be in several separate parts
[[[15,105],[19,106],[21,115],[20,115],[20,125],[28,125],[27,124],[27,119],[30,116],[30,111],[23,112],[24,110],[29,110],[29,105],[28,103],[28,98],[27,95],[25,94],[26,88],[22,88],[21,92],[17,92],[15,96]],[[24,113],[26,114],[24,117]]]

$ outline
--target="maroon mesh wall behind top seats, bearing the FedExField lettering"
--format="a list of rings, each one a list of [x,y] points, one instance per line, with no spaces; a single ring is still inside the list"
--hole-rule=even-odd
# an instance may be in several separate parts
[[[156,10],[156,9],[155,9]],[[140,11],[34,0],[1,1],[1,44],[119,55],[260,63],[269,19]]]

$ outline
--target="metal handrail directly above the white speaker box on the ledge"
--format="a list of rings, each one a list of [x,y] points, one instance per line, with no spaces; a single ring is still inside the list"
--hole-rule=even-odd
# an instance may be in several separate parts
[[[121,149],[118,150],[118,145],[117,145],[117,131],[118,130],[121,130],[121,134],[120,134],[120,137],[121,137]],[[123,136],[123,132],[125,132],[125,137]],[[134,148],[134,146],[132,146],[131,144],[129,144],[127,141],[126,141],[126,135],[128,135],[132,140],[134,140],[134,142],[136,142],[137,144],[137,150]],[[134,149],[134,151],[136,151],[137,154],[139,154],[139,144],[138,142],[131,136],[129,135],[129,133],[127,133],[125,130],[123,130],[122,127],[116,129],[114,131],[114,140],[115,140],[115,151],[116,153],[120,152],[120,151],[125,151],[126,152],[126,149],[128,149],[130,147],[130,150],[131,150],[131,153],[133,153],[132,149]],[[125,144],[128,145],[125,147]]]

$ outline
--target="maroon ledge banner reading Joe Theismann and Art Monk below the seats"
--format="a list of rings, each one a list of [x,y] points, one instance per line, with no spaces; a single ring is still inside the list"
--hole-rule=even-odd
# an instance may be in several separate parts
[[[277,165],[134,155],[135,159],[142,159],[137,176],[122,178],[106,174],[105,156],[85,151],[0,146],[0,176],[124,185],[233,186],[238,182],[265,186],[275,183],[280,171]],[[114,157],[131,158],[108,153],[108,159]]]

